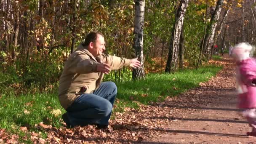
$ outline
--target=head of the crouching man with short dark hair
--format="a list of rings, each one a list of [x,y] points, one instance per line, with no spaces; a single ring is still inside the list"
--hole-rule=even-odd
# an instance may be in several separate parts
[[[106,49],[105,40],[101,33],[99,32],[90,32],[86,37],[83,43],[84,47],[87,47],[88,51],[93,56],[99,56]]]

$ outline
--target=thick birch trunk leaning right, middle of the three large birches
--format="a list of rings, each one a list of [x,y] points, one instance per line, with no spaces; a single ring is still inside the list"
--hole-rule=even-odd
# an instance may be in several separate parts
[[[175,23],[173,25],[173,32],[171,36],[171,43],[168,52],[168,59],[165,67],[165,72],[171,72],[177,68],[179,59],[179,43],[181,28],[183,26],[184,15],[187,10],[189,0],[181,0],[178,11],[175,13]]]

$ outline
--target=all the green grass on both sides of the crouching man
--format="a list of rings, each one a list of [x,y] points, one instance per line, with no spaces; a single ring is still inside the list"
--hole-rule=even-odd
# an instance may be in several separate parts
[[[162,101],[166,96],[176,96],[190,88],[199,86],[200,82],[209,80],[221,69],[216,66],[205,66],[195,69],[185,69],[173,74],[151,74],[145,80],[128,81],[117,83],[118,94],[115,111],[123,111],[125,107],[137,108],[139,101],[148,104],[150,101]],[[133,101],[130,97],[133,96]],[[36,93],[21,96],[0,96],[0,129],[7,129],[11,133],[17,133],[20,137],[26,133],[22,132],[20,126],[31,127],[30,131],[41,133],[43,130],[34,128],[40,122],[51,124],[57,128],[61,124],[61,114],[65,110],[60,106],[56,93]],[[59,109],[61,114],[55,117],[51,112]],[[21,142],[24,140],[21,139]],[[31,143],[31,141],[25,141]]]

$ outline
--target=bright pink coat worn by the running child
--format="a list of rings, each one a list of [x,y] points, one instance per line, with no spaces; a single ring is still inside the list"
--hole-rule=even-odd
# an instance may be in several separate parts
[[[239,94],[240,108],[256,108],[256,86],[252,80],[256,79],[256,60],[253,58],[240,61],[238,64],[240,72],[240,86],[243,92]]]

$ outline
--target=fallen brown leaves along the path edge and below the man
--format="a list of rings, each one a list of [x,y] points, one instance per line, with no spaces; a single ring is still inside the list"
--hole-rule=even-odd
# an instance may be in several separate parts
[[[234,67],[228,64],[228,62],[221,60],[211,60],[209,63]],[[26,135],[21,139],[30,139],[34,144],[140,143],[153,136],[157,137],[167,133],[165,128],[170,123],[179,123],[187,115],[196,111],[192,107],[203,103],[211,103],[211,97],[207,97],[208,93],[216,93],[218,95],[218,91],[213,91],[213,88],[232,88],[232,82],[229,84],[218,83],[221,79],[225,79],[225,73],[225,70],[222,70],[216,77],[211,77],[208,82],[199,83],[200,87],[188,90],[176,97],[167,97],[165,101],[152,102],[149,105],[138,104],[138,109],[126,107],[123,113],[115,112],[112,114],[115,115],[115,119],[110,120],[108,128],[105,129],[97,129],[95,125],[77,126],[72,129],[61,127],[58,129],[41,122],[35,125],[35,128],[43,129],[47,133],[46,139],[43,139],[40,134],[34,131],[27,131],[29,129],[27,127],[20,127],[21,131],[26,132]],[[175,90],[176,87],[173,87],[173,89]],[[147,97],[147,94],[142,94],[142,96]],[[133,96],[130,99],[134,100]],[[27,105],[30,104],[32,102]],[[60,115],[59,109],[51,112],[55,116]],[[27,110],[24,110],[24,113],[29,114]],[[2,143],[18,144],[19,136],[0,129],[0,144]]]

